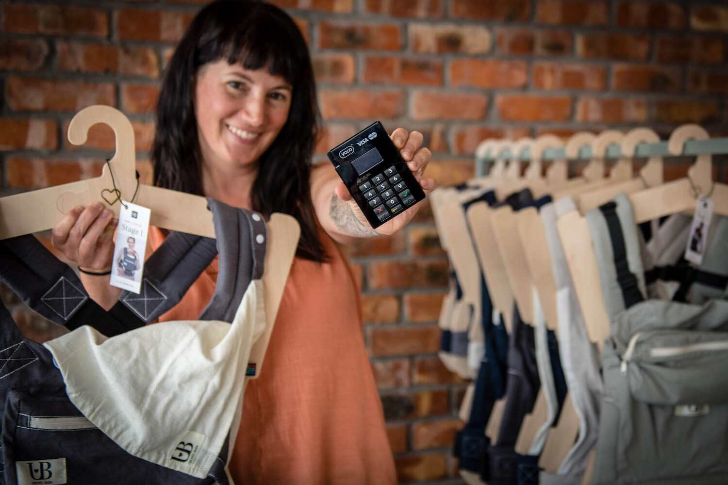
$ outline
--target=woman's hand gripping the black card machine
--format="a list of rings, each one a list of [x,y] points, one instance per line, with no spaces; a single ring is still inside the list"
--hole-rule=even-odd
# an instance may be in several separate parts
[[[438,188],[437,180],[434,178],[423,177],[424,169],[426,169],[427,164],[430,163],[432,153],[428,148],[422,147],[422,141],[424,140],[422,133],[408,132],[404,128],[397,128],[394,132],[392,132],[392,135],[390,135],[389,138],[391,138],[395,146],[399,148],[400,155],[407,162],[407,167],[409,167],[412,171],[412,175],[414,175],[420,187],[422,187],[422,191],[424,191],[425,195],[434,191],[435,188]],[[339,199],[341,200],[349,201],[349,204],[352,206],[352,211],[357,216],[357,219],[359,219],[367,227],[371,227],[369,226],[366,217],[361,212],[361,209],[352,199],[349,191],[347,191],[347,187],[343,182],[336,185],[336,195],[339,196]],[[414,217],[419,210],[419,206],[419,203],[414,204],[413,207],[405,210],[405,212],[401,212],[400,215],[397,215],[397,217],[392,217],[392,219],[376,228],[376,232],[381,234],[393,234],[399,231],[407,225],[410,220],[412,220],[412,217]]]

